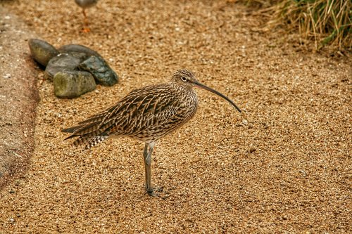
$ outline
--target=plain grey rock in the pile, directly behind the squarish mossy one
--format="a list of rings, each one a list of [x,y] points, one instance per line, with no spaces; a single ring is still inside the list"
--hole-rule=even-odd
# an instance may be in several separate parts
[[[45,72],[49,79],[58,72],[77,70],[78,65],[82,62],[82,58],[69,55],[68,53],[59,53],[58,56],[51,58],[45,68]]]

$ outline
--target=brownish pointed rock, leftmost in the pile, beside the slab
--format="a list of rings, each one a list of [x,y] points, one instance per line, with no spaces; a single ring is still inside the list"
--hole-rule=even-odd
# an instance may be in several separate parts
[[[30,46],[30,53],[34,60],[43,66],[46,66],[49,63],[49,60],[57,56],[59,53],[54,46],[39,39],[30,39],[28,45]]]

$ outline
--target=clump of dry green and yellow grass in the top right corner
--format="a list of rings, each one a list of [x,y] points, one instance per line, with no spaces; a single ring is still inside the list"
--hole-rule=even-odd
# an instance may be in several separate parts
[[[248,0],[246,4],[259,4],[262,7],[260,13],[271,15],[269,28],[284,25],[289,31],[298,30],[303,38],[314,39],[318,50],[327,45],[338,50],[351,49],[351,1]]]

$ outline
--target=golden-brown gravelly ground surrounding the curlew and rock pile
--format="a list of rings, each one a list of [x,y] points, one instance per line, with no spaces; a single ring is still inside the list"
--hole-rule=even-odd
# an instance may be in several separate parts
[[[54,46],[98,51],[120,75],[80,98],[38,76],[34,153],[0,191],[0,233],[351,233],[351,55],[310,53],[296,35],[225,1],[99,1],[80,32],[73,1],[4,1]],[[61,129],[187,67],[234,100],[199,91],[196,117],[158,141],[144,194],[144,144],[91,152]]]

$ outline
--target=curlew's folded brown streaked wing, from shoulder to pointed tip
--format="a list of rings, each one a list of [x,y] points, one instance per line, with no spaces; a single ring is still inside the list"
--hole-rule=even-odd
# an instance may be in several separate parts
[[[72,133],[68,138],[131,136],[163,126],[167,122],[175,122],[182,117],[182,112],[177,108],[180,100],[165,85],[167,84],[136,89],[111,108],[63,131]]]

